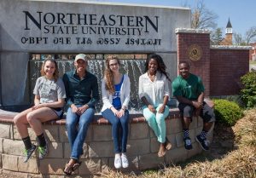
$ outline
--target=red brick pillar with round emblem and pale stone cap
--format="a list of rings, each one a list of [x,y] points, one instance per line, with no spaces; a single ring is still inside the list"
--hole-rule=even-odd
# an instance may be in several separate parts
[[[210,31],[176,29],[176,34],[177,66],[179,61],[187,61],[190,72],[202,78],[205,95],[208,96],[210,94]],[[189,59],[189,56],[193,55],[193,49],[195,49],[195,56],[201,56],[201,58]],[[196,55],[196,52],[200,55]]]

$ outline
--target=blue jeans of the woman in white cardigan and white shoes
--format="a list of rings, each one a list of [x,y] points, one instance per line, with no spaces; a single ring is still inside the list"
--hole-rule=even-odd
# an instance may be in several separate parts
[[[129,112],[125,110],[125,115],[121,118],[114,116],[110,109],[102,112],[102,116],[112,124],[114,152],[126,152]]]

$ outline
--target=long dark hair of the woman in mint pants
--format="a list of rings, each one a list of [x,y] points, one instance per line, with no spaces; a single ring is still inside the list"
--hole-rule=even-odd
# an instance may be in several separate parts
[[[163,73],[166,76],[166,78],[169,81],[171,81],[171,79],[169,78],[168,72],[166,72],[165,62],[161,58],[160,55],[156,55],[156,54],[148,55],[148,59],[146,60],[146,63],[145,63],[145,70],[144,70],[144,72],[148,72],[148,63],[149,63],[149,60],[151,60],[151,59],[154,59],[157,62],[157,64],[158,64],[157,71],[159,71],[160,73]]]

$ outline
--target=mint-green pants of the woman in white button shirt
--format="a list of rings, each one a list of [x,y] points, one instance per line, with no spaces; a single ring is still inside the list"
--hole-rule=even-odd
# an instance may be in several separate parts
[[[150,112],[147,106],[143,106],[143,116],[146,118],[148,125],[154,130],[154,134],[157,137],[157,141],[160,143],[166,142],[166,121],[165,119],[169,115],[169,107],[166,106],[165,112],[159,113],[159,108],[162,106],[155,107],[156,113]]]

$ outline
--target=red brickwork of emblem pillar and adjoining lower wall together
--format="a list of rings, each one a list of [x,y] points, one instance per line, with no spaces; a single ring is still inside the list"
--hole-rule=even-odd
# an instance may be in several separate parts
[[[201,46],[201,60],[189,59],[191,44]],[[189,62],[191,73],[202,78],[206,96],[239,94],[240,78],[249,71],[248,49],[210,49],[208,33],[177,32],[177,64],[182,60]]]

